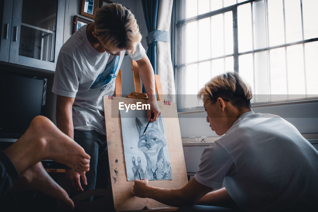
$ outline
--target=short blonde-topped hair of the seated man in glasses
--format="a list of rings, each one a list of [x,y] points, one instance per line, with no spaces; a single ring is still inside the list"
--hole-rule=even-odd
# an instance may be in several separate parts
[[[239,110],[250,108],[252,88],[239,74],[227,72],[214,77],[198,93],[198,98],[203,101],[206,99],[213,101],[218,97],[229,100]]]

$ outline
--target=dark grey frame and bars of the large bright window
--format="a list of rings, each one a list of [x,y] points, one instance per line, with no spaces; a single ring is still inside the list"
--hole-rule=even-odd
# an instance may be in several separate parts
[[[183,20],[176,20],[176,2],[174,1],[173,3],[173,12],[172,12],[172,23],[174,23],[174,26],[172,26],[172,64],[174,65],[174,69],[176,68],[180,68],[180,67],[185,67],[187,65],[191,65],[191,64],[198,64],[200,62],[205,62],[205,61],[211,61],[211,60],[216,60],[216,59],[222,59],[222,58],[226,58],[226,57],[231,57],[233,56],[233,64],[234,64],[234,72],[239,73],[239,56],[240,55],[245,55],[245,54],[250,54],[250,53],[258,53],[258,52],[263,52],[263,51],[269,51],[272,49],[277,49],[277,48],[285,48],[285,55],[287,54],[287,47],[288,46],[294,46],[294,45],[299,45],[302,44],[302,48],[303,51],[305,51],[305,44],[309,43],[309,42],[314,42],[314,41],[318,41],[318,38],[312,38],[312,39],[304,39],[304,25],[303,25],[303,9],[302,9],[302,0],[300,0],[301,2],[301,32],[302,32],[302,40],[301,41],[296,41],[296,42],[291,42],[291,43],[286,43],[286,20],[285,20],[285,9],[283,10],[283,16],[284,16],[284,32],[285,32],[285,44],[281,44],[281,45],[277,45],[277,46],[269,46],[269,47],[265,47],[265,48],[259,48],[259,49],[254,49],[254,29],[253,29],[253,2],[255,1],[259,1],[259,0],[248,0],[248,1],[244,1],[241,3],[237,3],[237,4],[233,4],[231,6],[227,6],[218,10],[214,10],[214,11],[210,11],[204,14],[200,14],[194,17],[190,17],[190,18],[185,18]],[[266,7],[266,13],[267,13],[267,0],[265,1],[265,7]],[[236,1],[238,2],[238,0]],[[240,5],[243,4],[251,4],[251,15],[252,15],[252,50],[250,51],[246,51],[246,52],[240,52],[239,53],[239,42],[238,42],[238,25],[237,25],[237,8]],[[284,0],[283,0],[283,8],[285,8],[284,5]],[[225,12],[229,12],[232,11],[232,17],[233,17],[233,54],[227,54],[227,55],[222,55],[222,56],[218,56],[218,57],[211,57],[208,59],[204,59],[204,60],[197,60],[197,61],[193,61],[187,64],[175,64],[175,36],[176,36],[176,28],[179,26],[182,26],[184,24],[188,24],[190,22],[193,21],[198,21],[201,20],[203,18],[208,18],[208,17],[212,17],[218,14],[223,14]],[[268,15],[266,15],[266,41],[267,43],[269,42],[269,36],[268,36]],[[255,60],[254,60],[254,55],[253,54],[253,74],[255,76]],[[306,63],[305,63],[305,54],[303,54],[304,57],[304,72],[306,74]],[[268,57],[267,57],[268,60]],[[287,61],[287,57],[285,57],[285,60]],[[270,69],[270,67],[268,66],[267,69]],[[270,71],[270,70],[269,70]],[[286,71],[288,71],[288,67],[286,67]],[[176,72],[175,72],[176,73]],[[176,74],[175,74],[176,77]],[[177,79],[175,80],[177,81]],[[305,78],[305,89],[306,89],[306,93],[307,93],[307,84],[306,84],[306,78]],[[177,89],[176,89],[177,90]],[[255,77],[254,77],[254,89],[255,90]],[[287,89],[288,92],[288,89]],[[178,95],[178,94],[177,94]],[[270,95],[270,94],[268,94]],[[287,93],[288,95],[288,93]],[[318,93],[317,93],[318,95]],[[307,96],[307,95],[306,95]],[[298,104],[298,103],[310,103],[310,102],[318,102],[318,97],[305,97],[305,98],[299,98],[299,99],[287,99],[287,100],[282,100],[282,101],[268,101],[268,102],[253,102],[252,103],[252,108],[254,107],[264,107],[264,106],[276,106],[276,105],[286,105],[286,104]],[[194,107],[194,108],[182,108],[182,109],[178,109],[178,112],[193,112],[193,111],[202,111],[204,110],[203,106],[198,106],[198,107]]]

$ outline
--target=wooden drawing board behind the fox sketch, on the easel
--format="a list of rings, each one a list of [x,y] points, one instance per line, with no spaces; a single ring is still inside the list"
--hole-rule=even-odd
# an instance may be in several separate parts
[[[127,181],[126,176],[119,102],[124,102],[125,104],[142,102],[142,104],[146,104],[148,103],[148,100],[122,97],[109,99],[108,96],[104,96],[108,158],[115,211],[143,210],[145,206],[147,206],[147,208],[170,207],[153,199],[132,196],[134,181]],[[164,123],[173,179],[150,180],[149,185],[167,189],[180,188],[188,182],[188,178],[184,163],[176,103],[171,103],[171,105],[165,105],[163,101],[158,101],[157,103],[160,110],[164,113]],[[162,209],[161,211],[171,211],[174,209],[176,208],[170,207],[170,209]]]

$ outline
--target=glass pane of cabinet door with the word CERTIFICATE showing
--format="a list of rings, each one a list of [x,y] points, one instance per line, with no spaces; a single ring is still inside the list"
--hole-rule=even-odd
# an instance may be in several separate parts
[[[19,55],[54,63],[57,1],[23,1]]]

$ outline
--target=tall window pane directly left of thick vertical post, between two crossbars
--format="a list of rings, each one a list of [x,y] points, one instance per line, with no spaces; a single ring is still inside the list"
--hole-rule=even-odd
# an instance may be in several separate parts
[[[233,53],[233,17],[232,11],[224,13],[224,54]]]

